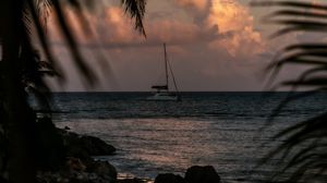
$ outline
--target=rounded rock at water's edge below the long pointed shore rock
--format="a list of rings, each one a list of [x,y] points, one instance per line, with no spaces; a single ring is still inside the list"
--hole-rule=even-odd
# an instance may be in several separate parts
[[[108,161],[92,161],[86,164],[86,172],[96,173],[99,176],[117,179],[117,170]]]

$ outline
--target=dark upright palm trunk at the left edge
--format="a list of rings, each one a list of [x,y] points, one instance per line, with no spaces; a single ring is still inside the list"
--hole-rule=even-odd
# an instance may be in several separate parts
[[[20,51],[23,27],[23,0],[1,0],[2,73],[1,94],[8,137],[7,175],[12,183],[35,183],[35,117],[21,84]]]

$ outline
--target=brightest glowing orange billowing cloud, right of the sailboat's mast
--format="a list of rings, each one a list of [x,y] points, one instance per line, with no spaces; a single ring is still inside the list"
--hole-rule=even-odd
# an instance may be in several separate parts
[[[254,21],[249,9],[237,1],[213,1],[207,24],[219,26],[220,32],[234,32],[232,38],[216,41],[211,44],[211,48],[223,46],[232,56],[245,58],[265,49],[261,33],[254,30]]]

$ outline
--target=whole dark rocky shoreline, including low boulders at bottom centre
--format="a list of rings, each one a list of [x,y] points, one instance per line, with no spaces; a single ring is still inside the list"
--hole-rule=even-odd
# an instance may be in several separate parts
[[[69,127],[57,129],[50,121],[39,123],[43,129],[41,136],[57,144],[56,149],[50,149],[45,156],[49,156],[48,167],[37,172],[37,183],[147,183],[148,180],[138,178],[118,179],[118,172],[108,161],[99,161],[92,156],[114,155],[116,148],[100,138],[87,135],[78,135],[70,132]],[[60,160],[58,152],[64,151],[64,159]],[[57,155],[56,155],[57,154]],[[51,158],[52,157],[52,158]],[[62,161],[61,166],[58,161]],[[45,167],[47,167],[45,166]],[[187,169],[184,178],[166,173],[158,174],[155,183],[220,183],[220,176],[214,167],[194,166]]]

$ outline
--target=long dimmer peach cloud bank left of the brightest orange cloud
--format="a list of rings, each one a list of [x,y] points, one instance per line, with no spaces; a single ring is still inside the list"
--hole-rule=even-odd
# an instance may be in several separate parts
[[[142,37],[134,28],[133,22],[119,7],[107,8],[99,16],[87,14],[89,27],[94,35],[85,36],[78,20],[72,11],[66,12],[66,20],[74,32],[76,40],[81,45],[102,45],[107,48],[160,45],[166,41],[171,45],[185,45],[198,41],[213,41],[223,39],[229,34],[220,34],[217,25],[201,26],[194,22],[181,22],[180,20],[157,19],[144,20],[147,38]],[[50,24],[50,35],[53,41],[62,41],[60,33],[56,28],[55,21]]]

